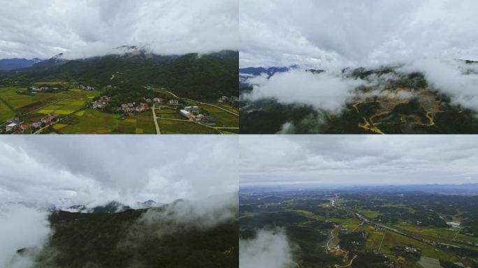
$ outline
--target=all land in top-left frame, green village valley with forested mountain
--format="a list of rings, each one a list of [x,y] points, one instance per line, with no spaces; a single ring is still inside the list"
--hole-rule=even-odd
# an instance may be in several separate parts
[[[234,52],[62,56],[0,74],[0,133],[238,133]]]

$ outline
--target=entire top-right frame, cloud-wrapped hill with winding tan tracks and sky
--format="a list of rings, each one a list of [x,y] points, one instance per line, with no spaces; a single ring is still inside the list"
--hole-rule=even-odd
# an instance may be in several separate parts
[[[245,1],[241,133],[477,133],[473,7]]]

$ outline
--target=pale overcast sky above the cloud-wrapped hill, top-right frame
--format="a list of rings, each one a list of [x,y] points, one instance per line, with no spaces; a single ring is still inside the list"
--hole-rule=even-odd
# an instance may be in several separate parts
[[[475,0],[240,1],[240,67],[478,59]]]

